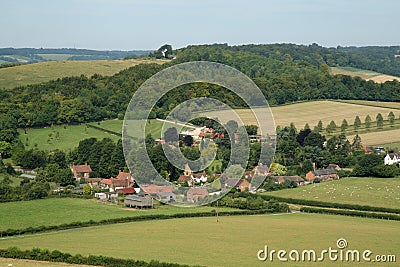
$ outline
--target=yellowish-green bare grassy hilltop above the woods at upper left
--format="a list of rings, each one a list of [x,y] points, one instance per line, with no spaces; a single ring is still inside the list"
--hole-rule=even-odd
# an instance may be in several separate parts
[[[0,69],[0,89],[47,82],[69,76],[113,75],[140,63],[163,63],[162,60],[88,60],[51,61]]]

